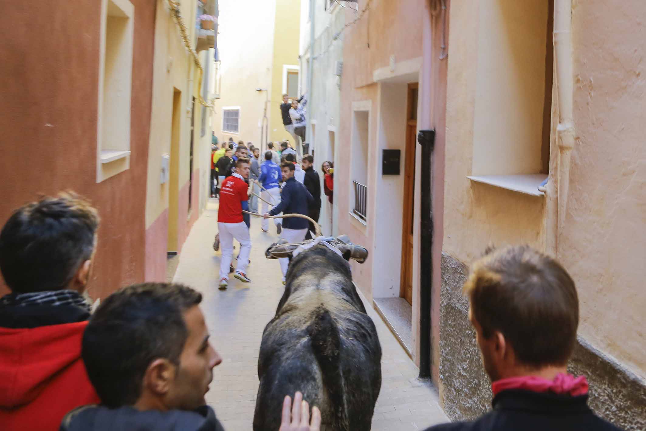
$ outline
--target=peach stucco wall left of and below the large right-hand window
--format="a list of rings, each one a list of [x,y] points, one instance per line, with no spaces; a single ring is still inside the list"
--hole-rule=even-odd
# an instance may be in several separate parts
[[[449,35],[443,244],[463,262],[479,257],[488,244],[545,244],[544,198],[466,178],[472,174],[477,121],[480,7],[453,2]]]

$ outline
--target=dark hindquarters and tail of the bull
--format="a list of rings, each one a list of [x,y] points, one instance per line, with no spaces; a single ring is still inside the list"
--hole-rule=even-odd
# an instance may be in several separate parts
[[[304,394],[329,430],[370,430],[381,385],[381,349],[368,315],[295,308],[266,327],[258,357],[254,429],[277,429],[285,395]]]

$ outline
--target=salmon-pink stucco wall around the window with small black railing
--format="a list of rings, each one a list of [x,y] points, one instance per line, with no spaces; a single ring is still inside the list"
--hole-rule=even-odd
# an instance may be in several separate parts
[[[366,0],[359,1],[359,10],[366,6]],[[346,146],[346,154],[337,158],[335,165],[335,204],[339,205],[339,233],[348,234],[353,242],[372,249],[373,238],[377,234],[375,226],[375,184],[380,154],[377,149],[377,113],[379,85],[373,81],[373,72],[379,68],[388,67],[390,56],[395,56],[395,62],[401,63],[422,55],[422,16],[424,2],[415,0],[389,1],[373,0],[370,12],[355,25],[346,30],[344,38],[344,71],[342,76],[339,147]],[[346,21],[355,19],[354,12],[346,12]],[[404,30],[405,29],[405,30]],[[351,198],[351,160],[348,157],[351,143],[352,103],[355,101],[371,101],[370,131],[368,151],[368,223],[362,226],[360,222],[349,215],[352,210]],[[395,226],[394,229],[401,229]],[[399,258],[399,257],[393,257]],[[353,274],[357,286],[372,299],[373,268],[371,260],[363,264],[353,264]]]

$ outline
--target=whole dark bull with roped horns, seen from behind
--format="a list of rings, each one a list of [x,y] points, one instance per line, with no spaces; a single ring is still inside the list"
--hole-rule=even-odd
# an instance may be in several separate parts
[[[381,346],[347,261],[364,262],[367,251],[342,237],[328,239],[338,248],[317,244],[289,263],[285,293],[262,335],[255,431],[277,430],[285,395],[297,391],[320,408],[322,430],[370,430]]]

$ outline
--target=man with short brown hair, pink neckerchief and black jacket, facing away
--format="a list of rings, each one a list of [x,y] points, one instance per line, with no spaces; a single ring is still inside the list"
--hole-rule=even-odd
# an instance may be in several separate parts
[[[567,373],[579,300],[574,281],[556,260],[529,246],[506,247],[475,262],[463,290],[492,381],[494,409],[473,422],[429,430],[619,429],[587,406],[585,377]]]

